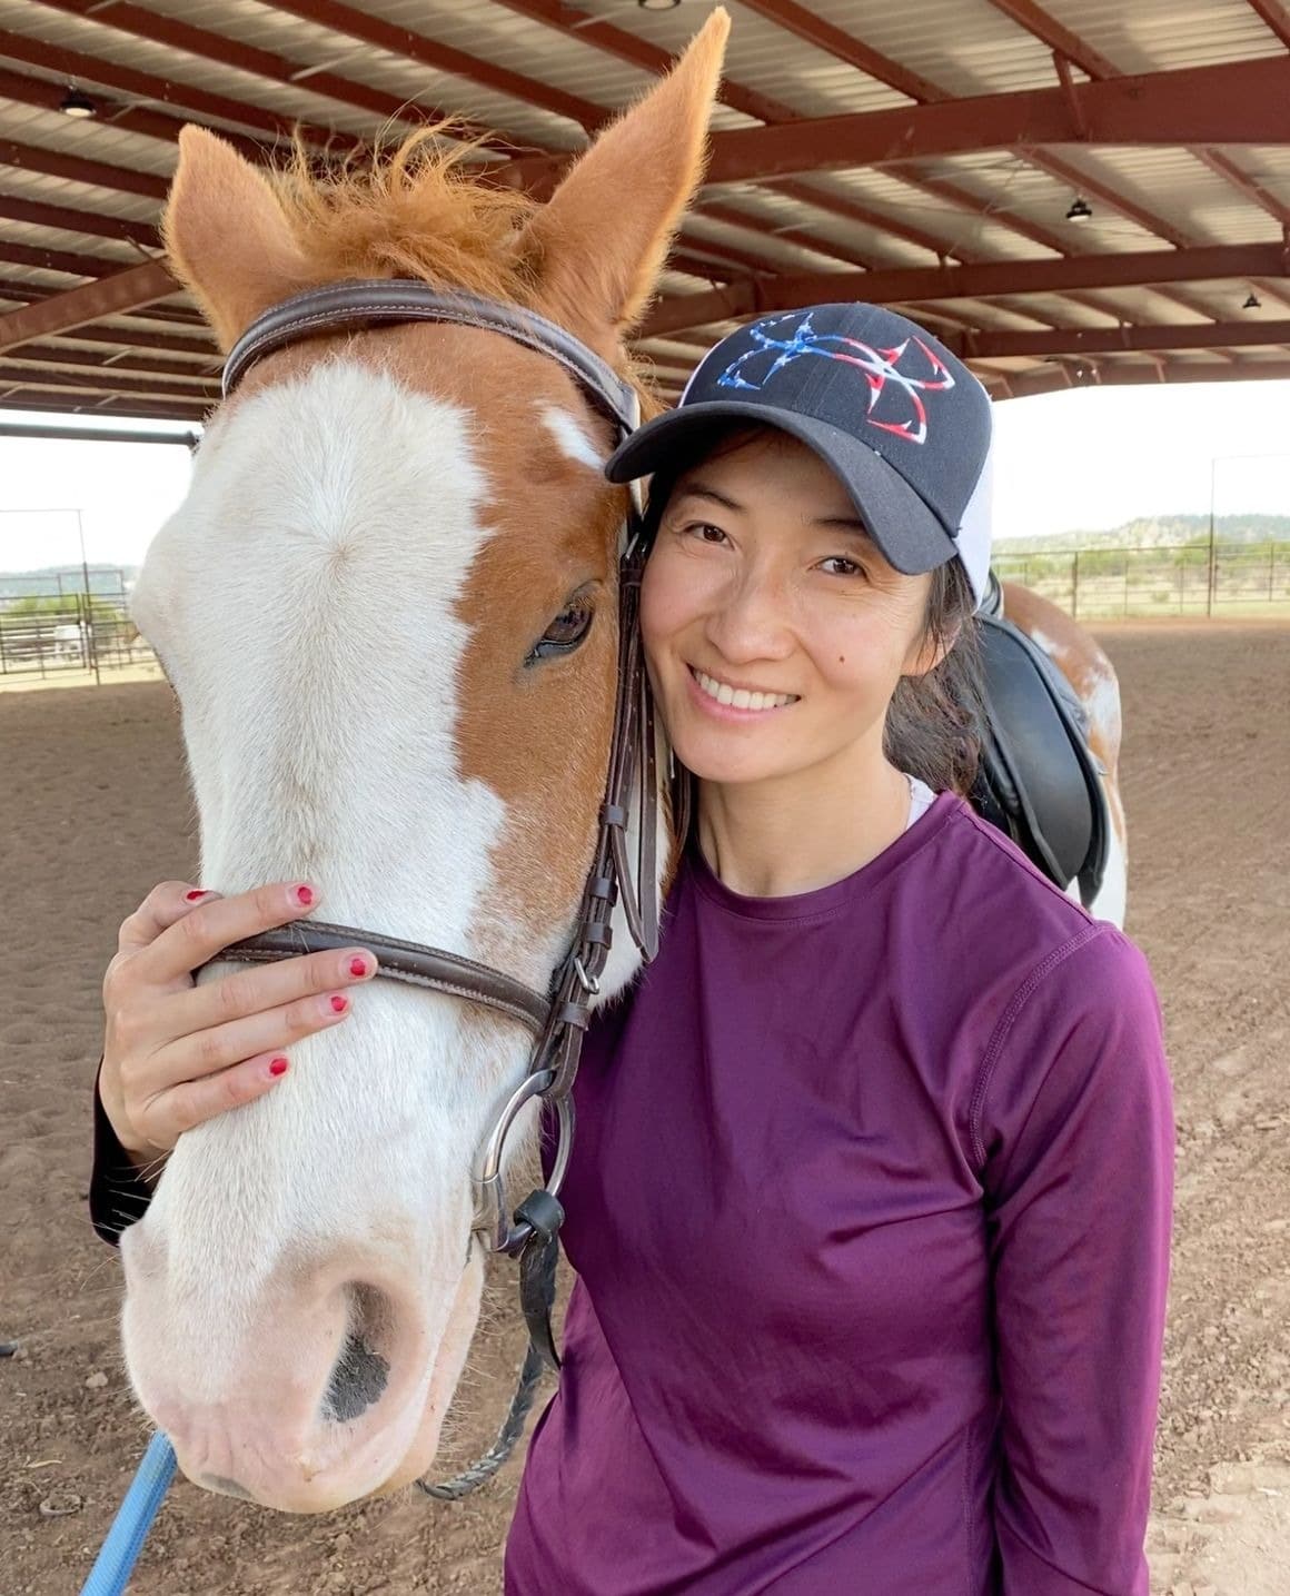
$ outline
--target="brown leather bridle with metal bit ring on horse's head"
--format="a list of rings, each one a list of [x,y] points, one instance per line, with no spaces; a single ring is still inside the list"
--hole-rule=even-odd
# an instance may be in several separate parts
[[[238,340],[224,367],[224,394],[265,354],[330,332],[417,321],[455,322],[497,332],[557,361],[583,394],[607,415],[621,440],[635,429],[640,405],[635,389],[575,337],[533,311],[501,305],[465,292],[441,292],[425,282],[375,279],[315,289],[265,311]],[[583,1036],[591,1001],[600,991],[600,975],[610,954],[615,905],[621,902],[632,940],[650,962],[658,953],[658,764],[655,715],[637,627],[645,535],[640,501],[632,490],[623,528],[618,587],[618,696],[613,717],[605,796],[591,871],[583,889],[578,922],[564,962],[543,994],[487,964],[477,964],[444,948],[394,937],[374,935],[354,926],[295,921],[225,948],[220,959],[271,962],[326,948],[369,948],[377,975],[429,988],[527,1025],[533,1050],[524,1079],[508,1098],[484,1151],[476,1176],[477,1205],[473,1235],[485,1250],[519,1259],[520,1307],[528,1326],[528,1350],[519,1389],[493,1448],[477,1464],[442,1484],[417,1481],[428,1495],[455,1499],[473,1491],[505,1460],[524,1427],[543,1365],[559,1369],[551,1331],[559,1229],[564,1208],[560,1186],[573,1148],[573,1100]],[[627,825],[639,795],[635,868],[627,859]],[[511,1210],[505,1181],[506,1141],[520,1111],[532,1101],[551,1104],[557,1119],[557,1143],[551,1176]]]

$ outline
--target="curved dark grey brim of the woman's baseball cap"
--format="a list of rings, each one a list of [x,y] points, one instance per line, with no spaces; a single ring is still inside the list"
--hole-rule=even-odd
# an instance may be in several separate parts
[[[905,576],[936,570],[958,544],[894,466],[849,433],[766,404],[717,399],[680,405],[637,428],[605,464],[610,482],[632,482],[667,466],[682,444],[701,444],[730,421],[770,426],[806,444],[846,488],[856,514],[891,565]]]

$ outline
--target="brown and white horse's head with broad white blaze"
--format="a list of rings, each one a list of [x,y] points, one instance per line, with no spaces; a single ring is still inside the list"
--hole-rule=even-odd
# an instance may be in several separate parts
[[[538,311],[624,370],[725,32],[714,16],[544,206],[433,160],[270,182],[190,131],[171,259],[225,345],[302,289],[418,276]],[[611,442],[556,361],[477,327],[254,365],[134,603],[182,705],[203,884],[311,879],[330,921],[546,990],[613,721]],[[632,974],[616,940],[607,993]],[[378,982],[281,1087],[180,1140],[121,1254],[131,1379],[192,1479],[311,1511],[425,1472],[479,1309],[471,1176],[528,1045]]]

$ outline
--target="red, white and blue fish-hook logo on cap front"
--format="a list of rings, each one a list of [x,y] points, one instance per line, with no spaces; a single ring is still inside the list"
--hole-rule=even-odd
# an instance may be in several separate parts
[[[856,367],[869,385],[865,421],[910,444],[928,439],[928,409],[923,394],[945,393],[955,378],[945,362],[923,343],[908,337],[891,350],[880,350],[838,332],[816,332],[808,313],[795,326],[793,316],[757,321],[746,329],[754,346],[746,350],[717,378],[718,388],[766,389],[771,380],[795,361],[814,356]],[[921,358],[920,353],[921,351]],[[910,370],[900,370],[900,364]],[[878,415],[880,409],[883,417]],[[892,413],[896,417],[892,418]]]

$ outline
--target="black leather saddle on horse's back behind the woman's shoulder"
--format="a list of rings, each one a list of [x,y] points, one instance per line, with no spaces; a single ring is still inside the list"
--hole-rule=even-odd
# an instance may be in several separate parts
[[[1106,870],[1110,814],[1084,705],[1047,654],[1003,613],[1003,589],[977,611],[985,720],[972,808],[1087,908]]]

